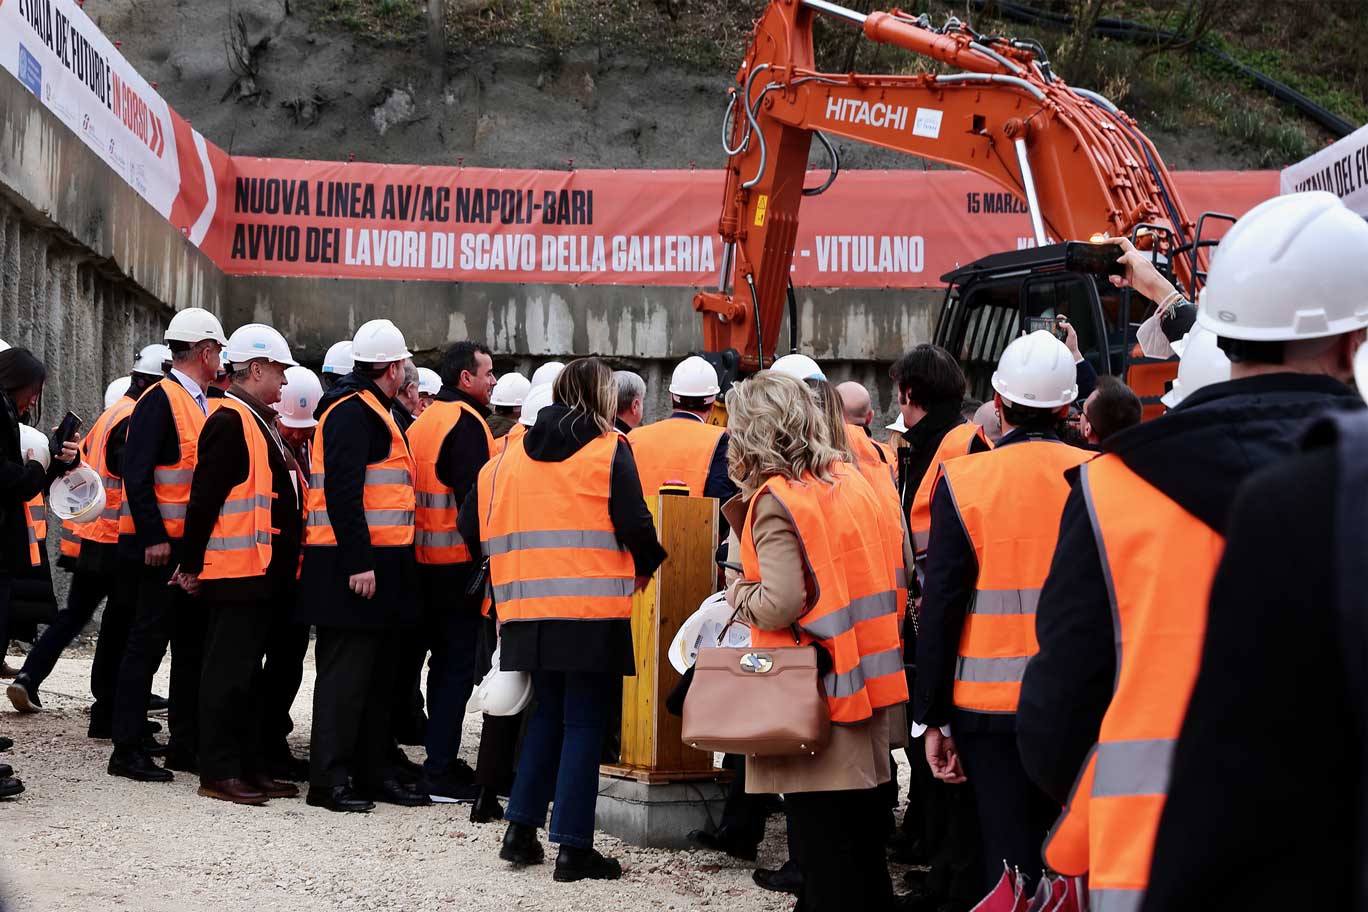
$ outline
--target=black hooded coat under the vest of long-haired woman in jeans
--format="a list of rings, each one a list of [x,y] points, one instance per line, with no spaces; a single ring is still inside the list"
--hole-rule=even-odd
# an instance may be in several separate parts
[[[536,462],[565,462],[598,439],[598,425],[583,413],[550,405],[536,416],[536,425],[523,438],[528,457]],[[665,548],[655,537],[655,524],[642,496],[632,447],[617,442],[613,454],[609,514],[617,540],[632,554],[636,576],[651,576],[665,562]],[[472,489],[457,518],[461,537],[477,559],[480,546],[479,489]],[[495,611],[498,606],[494,606]],[[610,621],[520,621],[501,628],[499,663],[510,671],[603,671],[635,674],[631,619]]]

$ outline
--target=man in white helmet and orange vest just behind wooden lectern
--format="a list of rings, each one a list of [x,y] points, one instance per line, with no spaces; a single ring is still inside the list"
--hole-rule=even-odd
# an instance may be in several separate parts
[[[627,435],[647,502],[666,483],[683,484],[691,496],[724,503],[736,494],[726,474],[731,438],[726,428],[707,423],[720,391],[713,365],[689,356],[670,375],[670,416]]]

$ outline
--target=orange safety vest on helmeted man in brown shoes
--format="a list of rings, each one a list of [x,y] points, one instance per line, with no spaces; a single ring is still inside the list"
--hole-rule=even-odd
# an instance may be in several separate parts
[[[235,484],[219,507],[219,518],[204,546],[201,580],[241,580],[259,577],[271,566],[271,451],[261,420],[245,402],[224,397],[220,409],[237,412],[242,420],[242,438],[248,444],[248,477]]]

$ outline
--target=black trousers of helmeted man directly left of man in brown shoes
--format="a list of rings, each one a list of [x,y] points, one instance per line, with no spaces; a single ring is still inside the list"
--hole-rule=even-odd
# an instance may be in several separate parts
[[[142,742],[152,678],[170,645],[167,752],[193,762],[200,744],[200,675],[208,614],[179,587],[167,585],[176,563],[172,554],[164,567],[137,567],[137,606],[115,688],[114,745],[135,749]]]

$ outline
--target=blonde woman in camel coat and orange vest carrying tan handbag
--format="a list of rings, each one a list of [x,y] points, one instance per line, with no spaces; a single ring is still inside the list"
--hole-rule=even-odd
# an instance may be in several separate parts
[[[741,489],[726,511],[744,570],[728,600],[755,645],[821,649],[832,716],[830,742],[815,755],[748,757],[746,788],[785,797],[800,908],[886,909],[886,808],[877,790],[892,775],[907,682],[896,581],[882,526],[870,522],[878,502],[832,444],[802,381],[761,372],[733,387],[726,406],[728,464]]]

